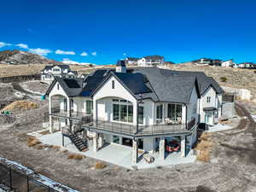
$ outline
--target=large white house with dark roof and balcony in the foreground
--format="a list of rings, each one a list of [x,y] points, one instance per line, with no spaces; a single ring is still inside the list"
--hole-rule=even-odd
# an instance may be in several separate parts
[[[126,69],[119,61],[115,70],[98,69],[85,79],[55,78],[45,95],[49,131],[80,140],[79,149],[92,137],[95,153],[104,143],[130,146],[136,164],[138,148],[165,160],[168,143],[177,143],[186,156],[196,143],[197,125],[213,125],[221,115],[221,94],[205,73]]]

